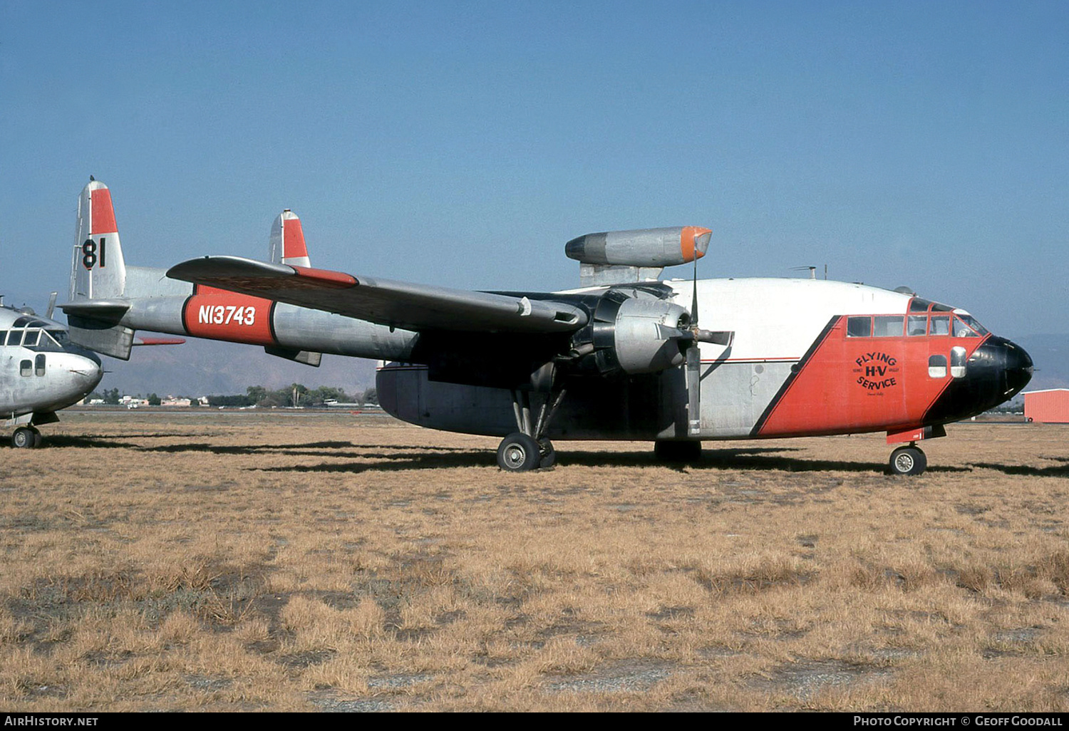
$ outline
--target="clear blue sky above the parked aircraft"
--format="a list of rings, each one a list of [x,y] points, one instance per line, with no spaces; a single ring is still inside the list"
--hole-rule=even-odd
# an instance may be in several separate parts
[[[2,0],[0,94],[9,302],[66,291],[93,174],[131,264],[291,207],[315,266],[555,290],[573,236],[697,224],[701,276],[1069,331],[1065,2]]]

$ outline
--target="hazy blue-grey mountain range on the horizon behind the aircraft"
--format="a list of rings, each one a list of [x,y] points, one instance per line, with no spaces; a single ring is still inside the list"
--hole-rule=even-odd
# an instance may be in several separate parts
[[[1069,388],[1069,333],[1013,338],[1032,356],[1028,390]],[[99,389],[159,395],[245,393],[249,386],[334,386],[359,394],[375,385],[375,361],[325,355],[320,368],[269,356],[263,348],[189,338],[185,345],[135,347],[128,362],[103,358],[108,373]]]

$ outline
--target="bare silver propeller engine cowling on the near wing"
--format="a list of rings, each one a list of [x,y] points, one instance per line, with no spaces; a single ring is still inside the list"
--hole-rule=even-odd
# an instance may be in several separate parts
[[[685,360],[673,332],[691,324],[686,309],[642,291],[609,290],[573,339],[580,370],[657,373]]]

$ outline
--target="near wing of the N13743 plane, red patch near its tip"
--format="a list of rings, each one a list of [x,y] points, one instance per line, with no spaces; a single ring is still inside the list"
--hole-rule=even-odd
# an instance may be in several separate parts
[[[584,310],[567,302],[357,278],[239,256],[192,259],[171,267],[167,276],[407,330],[570,332],[587,322]]]

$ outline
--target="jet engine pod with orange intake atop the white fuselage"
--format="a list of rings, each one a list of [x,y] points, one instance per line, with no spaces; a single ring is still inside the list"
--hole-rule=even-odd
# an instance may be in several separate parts
[[[564,253],[584,264],[661,267],[706,255],[712,231],[697,225],[586,234],[564,245]]]

